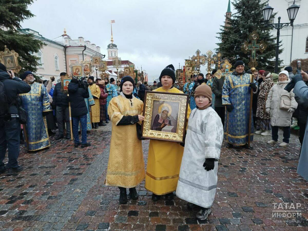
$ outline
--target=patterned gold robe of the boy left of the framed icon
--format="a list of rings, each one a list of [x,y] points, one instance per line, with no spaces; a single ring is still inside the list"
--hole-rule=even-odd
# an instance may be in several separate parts
[[[134,96],[127,99],[122,92],[109,102],[112,132],[106,185],[133,188],[144,180],[142,143],[137,137],[136,124],[117,125],[124,115],[141,115],[142,111],[140,99]]]

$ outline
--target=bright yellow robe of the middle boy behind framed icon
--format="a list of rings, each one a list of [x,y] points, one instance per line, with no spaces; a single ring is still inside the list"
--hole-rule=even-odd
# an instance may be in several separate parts
[[[172,87],[164,90],[162,87],[154,91],[182,93]],[[187,121],[190,115],[190,107],[187,109]],[[164,195],[176,190],[179,180],[180,166],[184,147],[179,143],[150,140],[148,165],[145,176],[145,188],[156,195]]]

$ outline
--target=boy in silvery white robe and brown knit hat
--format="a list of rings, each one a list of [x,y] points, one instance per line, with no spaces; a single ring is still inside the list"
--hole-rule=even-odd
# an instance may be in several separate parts
[[[217,169],[224,130],[211,106],[212,90],[200,85],[194,94],[197,108],[189,117],[176,196],[188,207],[201,207],[196,217],[205,220],[211,213],[217,187]]]

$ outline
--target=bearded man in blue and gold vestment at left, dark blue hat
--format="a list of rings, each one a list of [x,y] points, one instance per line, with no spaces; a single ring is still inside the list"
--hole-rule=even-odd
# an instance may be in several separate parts
[[[52,110],[46,88],[43,84],[34,82],[32,72],[25,71],[22,80],[31,86],[31,91],[19,95],[22,107],[28,113],[26,145],[28,145],[28,151],[37,151],[50,146],[46,115]]]

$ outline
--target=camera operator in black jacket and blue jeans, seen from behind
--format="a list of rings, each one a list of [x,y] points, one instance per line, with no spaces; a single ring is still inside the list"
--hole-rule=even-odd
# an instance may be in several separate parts
[[[89,98],[87,81],[78,81],[73,78],[68,84],[69,101],[71,102],[71,115],[73,118],[73,136],[75,147],[80,145],[78,127],[81,124],[81,147],[91,146],[87,142],[87,105],[84,99]]]

